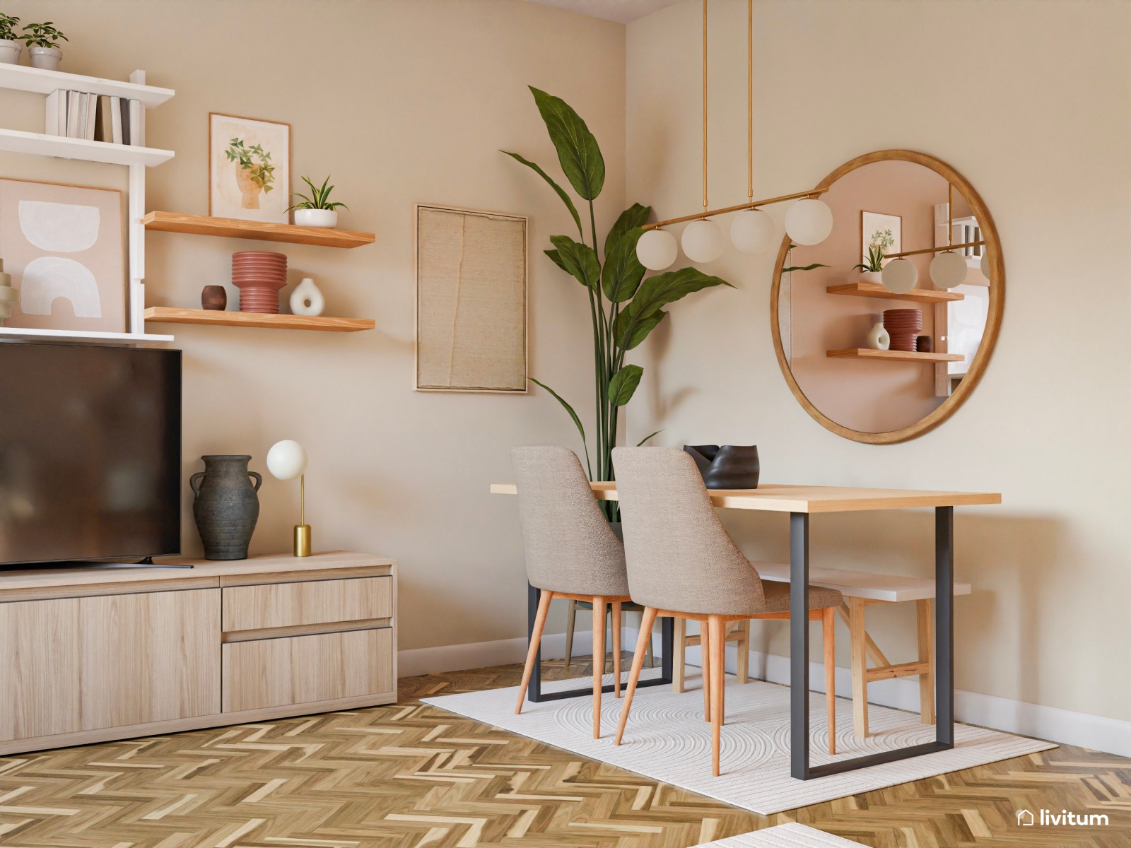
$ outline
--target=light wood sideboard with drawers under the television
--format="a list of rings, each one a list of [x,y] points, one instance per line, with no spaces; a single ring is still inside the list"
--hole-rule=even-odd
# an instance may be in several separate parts
[[[0,571],[0,754],[397,700],[397,574],[349,552]]]

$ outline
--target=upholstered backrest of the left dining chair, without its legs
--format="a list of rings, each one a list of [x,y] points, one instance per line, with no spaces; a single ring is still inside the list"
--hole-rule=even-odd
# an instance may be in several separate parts
[[[530,586],[576,595],[624,596],[624,546],[593,496],[577,455],[512,448]]]

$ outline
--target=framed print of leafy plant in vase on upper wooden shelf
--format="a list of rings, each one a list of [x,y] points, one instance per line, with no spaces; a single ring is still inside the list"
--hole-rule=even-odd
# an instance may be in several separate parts
[[[287,223],[291,124],[208,113],[208,214]]]

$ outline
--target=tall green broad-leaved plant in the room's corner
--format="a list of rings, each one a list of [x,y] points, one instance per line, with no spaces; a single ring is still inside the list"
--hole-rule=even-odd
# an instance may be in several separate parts
[[[542,120],[545,121],[550,140],[558,150],[558,161],[566,179],[589,205],[590,243],[587,244],[581,216],[578,215],[577,206],[566,190],[538,165],[517,153],[502,150],[550,183],[577,225],[577,240],[569,235],[552,235],[550,241],[553,249],[545,253],[559,268],[585,286],[589,297],[589,313],[593,319],[594,391],[597,399],[596,477],[593,476],[593,466],[589,461],[585,427],[573,407],[549,386],[534,378],[530,380],[553,395],[573,419],[581,434],[581,443],[585,445],[585,461],[589,477],[613,479],[612,452],[616,443],[618,414],[620,408],[632,399],[632,393],[640,384],[644,374],[644,369],[639,365],[625,365],[624,355],[644,341],[664,320],[667,314],[664,306],[701,288],[731,284],[696,268],[665,271],[645,279],[645,267],[637,259],[636,245],[644,233],[641,227],[647,223],[651,208],[640,204],[633,204],[621,213],[605,236],[602,251],[597,243],[597,224],[593,208],[593,201],[601,194],[605,183],[605,161],[597,146],[597,139],[589,132],[585,121],[563,99],[533,86],[530,93],[534,95]]]

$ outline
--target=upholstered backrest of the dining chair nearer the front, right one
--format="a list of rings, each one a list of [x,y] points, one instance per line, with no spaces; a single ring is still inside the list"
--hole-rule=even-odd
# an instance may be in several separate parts
[[[765,607],[762,581],[724,529],[690,455],[614,448],[613,469],[636,603],[716,615]]]

